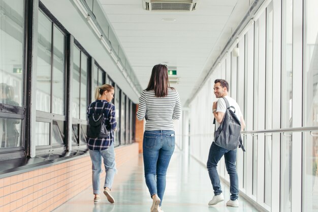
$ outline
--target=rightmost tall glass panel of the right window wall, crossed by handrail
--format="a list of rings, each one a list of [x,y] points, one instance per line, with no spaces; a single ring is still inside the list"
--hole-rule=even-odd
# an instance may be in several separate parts
[[[318,126],[318,2],[306,1],[306,32],[304,59],[304,126]],[[314,132],[318,134],[318,132]],[[317,211],[318,208],[318,137],[304,134],[304,195],[303,211]]]

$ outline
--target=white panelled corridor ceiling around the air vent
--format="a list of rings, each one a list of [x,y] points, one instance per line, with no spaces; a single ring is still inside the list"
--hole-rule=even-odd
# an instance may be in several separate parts
[[[200,0],[192,12],[143,10],[142,0],[99,0],[143,88],[155,64],[177,67],[181,103],[202,82],[248,10],[248,0]],[[167,22],[163,18],[174,18]]]

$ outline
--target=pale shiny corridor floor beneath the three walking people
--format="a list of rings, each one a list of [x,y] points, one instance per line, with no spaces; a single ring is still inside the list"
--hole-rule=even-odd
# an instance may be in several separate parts
[[[225,203],[230,197],[229,188],[222,184],[222,190],[225,201],[209,207],[207,203],[213,197],[213,190],[206,168],[192,157],[188,158],[176,151],[168,168],[162,209],[165,212],[258,211],[241,197],[240,207],[226,206]],[[53,211],[149,212],[152,200],[144,180],[142,156],[118,168],[112,194],[115,199],[114,204],[109,203],[103,194],[101,202],[94,204],[92,189],[89,186]]]

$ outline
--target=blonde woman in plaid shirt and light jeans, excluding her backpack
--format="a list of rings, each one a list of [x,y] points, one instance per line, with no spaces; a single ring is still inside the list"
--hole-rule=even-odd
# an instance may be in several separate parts
[[[111,103],[114,99],[114,87],[109,84],[104,84],[97,87],[95,90],[95,101],[90,103],[87,108],[88,118],[94,113],[101,113],[104,109],[104,124],[107,130],[110,131],[106,138],[87,138],[89,155],[92,162],[92,183],[94,202],[99,202],[100,197],[100,173],[102,172],[102,158],[106,171],[104,194],[109,202],[114,203],[115,200],[111,195],[111,187],[114,180],[114,175],[117,172],[114,152],[114,130],[116,129],[115,106]]]

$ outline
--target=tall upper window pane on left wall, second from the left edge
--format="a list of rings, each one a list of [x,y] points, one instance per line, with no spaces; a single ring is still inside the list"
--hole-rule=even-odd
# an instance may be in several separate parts
[[[41,11],[38,31],[37,110],[51,112],[52,22]]]

